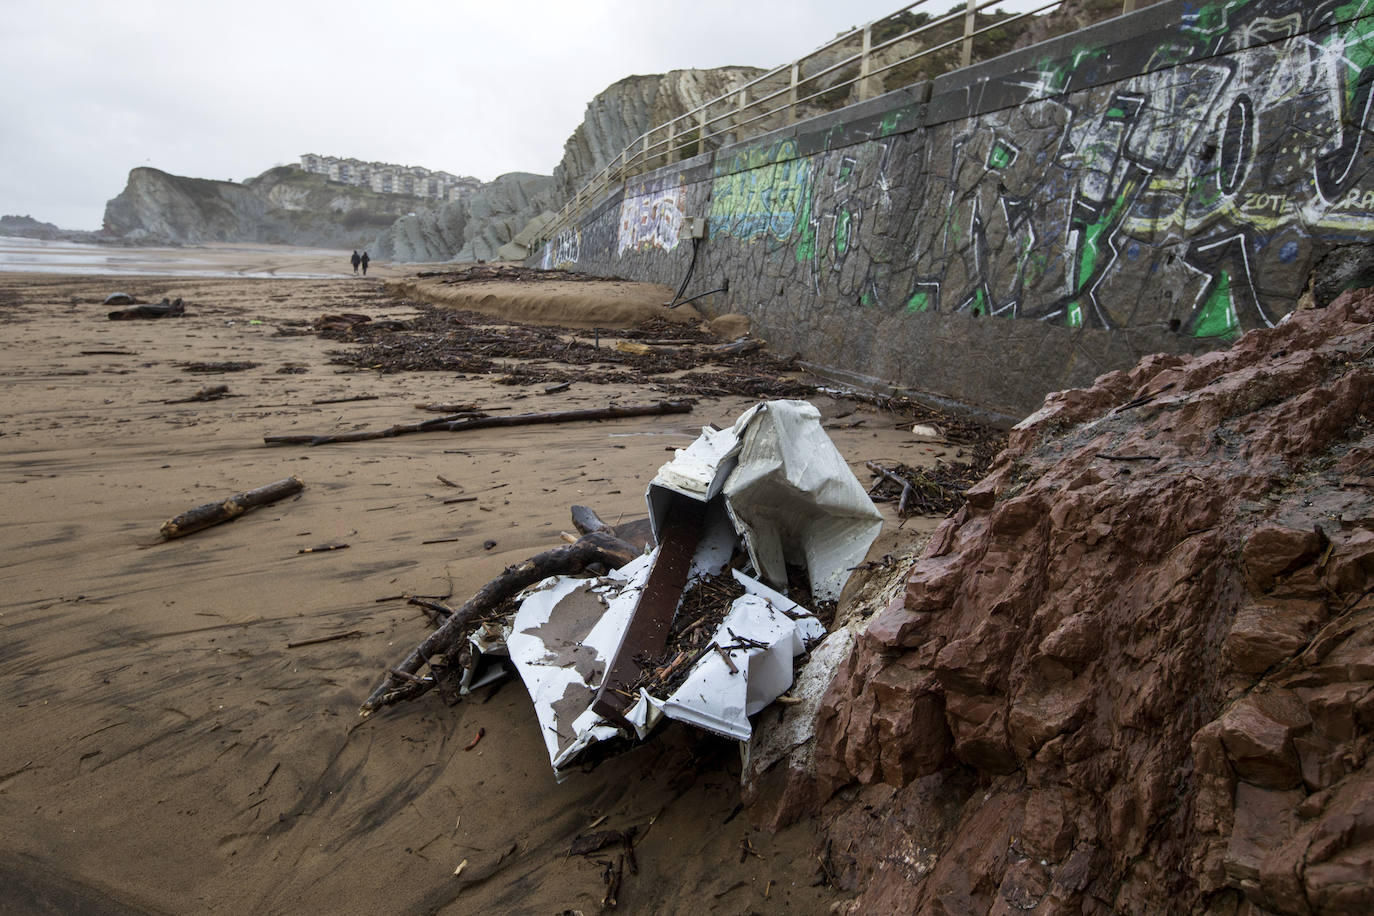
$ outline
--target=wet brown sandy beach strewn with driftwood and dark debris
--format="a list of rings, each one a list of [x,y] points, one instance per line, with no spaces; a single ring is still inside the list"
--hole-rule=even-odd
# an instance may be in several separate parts
[[[429,632],[400,596],[466,600],[556,547],[573,504],[643,516],[671,449],[754,400],[267,446],[269,434],[415,422],[436,401],[532,412],[664,394],[653,378],[544,394],[502,372],[339,365],[334,354],[359,345],[311,323],[414,317],[386,288],[414,265],[363,279],[348,253],[194,255],[236,276],[0,273],[0,911],[595,913],[606,857],[569,846],[594,827],[636,827],[622,912],[827,912],[838,897],[820,880],[816,824],[753,828],[732,743],[662,728],[558,784],[518,681],[357,715]],[[111,321],[114,291],[181,298],[185,316]],[[611,310],[577,324],[625,320]],[[216,385],[229,396],[188,400]],[[914,441],[901,416],[813,402],[866,485],[867,460],[955,453]],[[290,475],[298,497],[158,537],[177,512]],[[475,499],[445,503],[456,496]],[[872,558],[910,551],[938,520],[899,526],[882,509]],[[302,552],[326,545],[346,548]]]

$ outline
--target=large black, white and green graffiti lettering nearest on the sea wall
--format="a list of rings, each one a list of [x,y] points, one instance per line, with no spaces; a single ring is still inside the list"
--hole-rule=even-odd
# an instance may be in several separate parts
[[[949,224],[969,235],[941,246],[960,264],[941,269],[929,250],[919,258],[951,308],[1234,336],[1292,306],[1307,280],[1294,265],[1311,264],[1319,244],[1374,232],[1374,195],[1366,201],[1355,184],[1369,180],[1356,161],[1370,22],[1348,16],[1364,3],[1327,4],[1307,19],[1275,7],[1227,3],[1193,16],[1187,37],[1216,58],[1167,66],[1180,54],[1167,45],[1139,77],[970,125],[954,144],[947,195]],[[1046,70],[1032,92],[1066,81],[1063,69]],[[960,143],[1020,140],[1032,121],[1054,119],[1057,136],[1030,144],[1043,168],[1029,174],[1029,194],[1025,172],[1021,190],[1009,188],[1018,183],[1006,180],[1007,162],[1017,169],[1006,155],[985,161],[977,192],[960,187]],[[992,195],[1000,206],[988,206]],[[1161,293],[1173,299],[1143,298]]]

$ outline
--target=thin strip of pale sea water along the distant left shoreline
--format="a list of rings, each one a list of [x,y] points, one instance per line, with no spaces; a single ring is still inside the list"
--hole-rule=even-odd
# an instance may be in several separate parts
[[[0,236],[0,272],[125,276],[295,277],[339,276],[348,253],[284,246],[139,247],[84,242],[48,242]],[[295,261],[298,264],[290,264]],[[320,273],[320,262],[338,261],[338,272]],[[286,264],[283,264],[286,262]]]

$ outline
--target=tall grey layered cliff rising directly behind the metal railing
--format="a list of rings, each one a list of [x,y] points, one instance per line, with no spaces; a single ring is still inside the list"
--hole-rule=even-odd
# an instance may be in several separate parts
[[[587,103],[583,122],[567,137],[563,158],[554,166],[559,206],[649,128],[686,114],[763,73],[754,67],[671,70],[613,82]]]

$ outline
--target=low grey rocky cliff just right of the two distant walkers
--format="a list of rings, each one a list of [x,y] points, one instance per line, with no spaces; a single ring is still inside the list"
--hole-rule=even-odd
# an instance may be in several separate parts
[[[491,261],[552,202],[552,179],[513,172],[459,201],[401,217],[371,249],[390,261]]]

